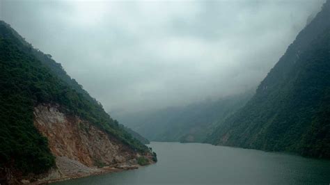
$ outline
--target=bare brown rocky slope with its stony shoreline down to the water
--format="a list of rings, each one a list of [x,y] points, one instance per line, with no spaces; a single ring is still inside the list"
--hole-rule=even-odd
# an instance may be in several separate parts
[[[1,172],[3,184],[44,184],[132,170],[155,163],[151,152],[137,152],[90,122],[64,110],[59,104],[39,104],[33,111],[33,124],[47,138],[56,165],[40,174],[24,174],[5,168]],[[139,163],[139,159],[143,159],[144,163]]]

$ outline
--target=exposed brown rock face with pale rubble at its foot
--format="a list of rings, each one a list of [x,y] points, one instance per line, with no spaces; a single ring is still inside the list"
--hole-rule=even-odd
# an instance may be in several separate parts
[[[42,179],[86,176],[102,172],[97,166],[136,165],[140,154],[77,116],[65,115],[58,105],[34,108],[34,124],[48,138],[57,170]]]

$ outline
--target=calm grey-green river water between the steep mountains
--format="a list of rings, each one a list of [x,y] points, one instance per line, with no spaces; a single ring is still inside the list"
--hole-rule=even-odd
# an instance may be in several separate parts
[[[152,142],[155,165],[73,184],[329,184],[330,161],[199,143]]]

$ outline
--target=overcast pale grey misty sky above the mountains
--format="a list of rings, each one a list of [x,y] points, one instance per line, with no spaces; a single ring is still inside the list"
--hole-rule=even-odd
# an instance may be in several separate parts
[[[258,86],[322,3],[0,0],[0,19],[118,113]]]

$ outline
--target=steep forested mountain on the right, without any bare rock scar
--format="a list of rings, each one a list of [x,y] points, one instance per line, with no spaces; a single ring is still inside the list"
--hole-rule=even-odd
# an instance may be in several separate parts
[[[330,158],[330,1],[207,142]]]

